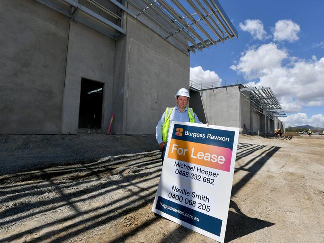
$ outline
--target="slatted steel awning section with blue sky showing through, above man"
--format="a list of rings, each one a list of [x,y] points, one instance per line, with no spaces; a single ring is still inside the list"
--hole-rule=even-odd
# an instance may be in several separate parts
[[[142,14],[150,18],[148,10],[159,14],[172,27],[162,37],[166,40],[170,37],[180,40],[176,36],[179,34],[192,52],[238,37],[235,27],[217,0],[186,0],[181,3],[178,0],[139,0],[137,3],[136,0],[125,1],[139,11],[136,18]],[[139,5],[139,2],[143,5]],[[155,22],[159,27],[165,28],[162,23]],[[183,43],[183,40],[180,41]]]

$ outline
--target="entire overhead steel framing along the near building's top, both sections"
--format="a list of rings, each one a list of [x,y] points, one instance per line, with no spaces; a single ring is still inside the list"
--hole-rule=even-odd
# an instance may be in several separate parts
[[[126,34],[126,30],[122,27],[122,24],[117,25],[113,23],[80,4],[78,0],[36,1],[63,13],[70,17],[70,19],[82,22],[110,38],[118,39],[120,36]],[[96,0],[85,1],[98,10],[120,20],[120,23],[122,22],[123,14],[119,16]],[[106,1],[136,18],[168,42],[172,43],[169,40],[171,37],[176,39],[182,45],[187,46],[188,51],[191,52],[208,48],[211,45],[216,45],[233,37],[238,37],[235,27],[218,0],[123,0],[123,2],[127,2],[131,7],[128,7],[128,5],[126,7],[126,4],[121,4],[117,0]],[[65,7],[62,7],[61,4],[64,4]],[[96,22],[82,17],[81,12],[90,16],[95,21],[99,21],[103,24],[104,28],[96,24]],[[156,14],[160,16],[164,23],[154,17]],[[163,30],[163,33],[152,25],[149,26],[146,24],[145,18],[154,22]],[[105,27],[108,27],[108,30]]]

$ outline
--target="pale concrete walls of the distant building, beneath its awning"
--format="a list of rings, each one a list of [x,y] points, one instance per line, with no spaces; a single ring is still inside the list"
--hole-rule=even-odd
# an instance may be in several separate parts
[[[268,118],[268,111],[263,108],[263,113],[257,112],[253,108],[254,104],[242,95],[239,91],[240,85],[232,85],[219,87],[214,89],[202,90],[202,100],[205,113],[207,114],[209,123],[212,125],[230,126],[240,128],[242,132],[244,124],[246,125],[247,133],[259,134],[273,133],[276,126],[283,128],[283,123],[275,118],[274,121]],[[197,99],[198,92],[191,92],[191,107],[194,107],[197,112],[201,112],[201,102]]]

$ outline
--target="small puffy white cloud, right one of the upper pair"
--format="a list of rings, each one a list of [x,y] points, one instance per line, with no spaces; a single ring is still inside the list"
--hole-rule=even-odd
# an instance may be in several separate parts
[[[294,23],[292,20],[279,20],[275,24],[273,30],[273,39],[276,41],[287,40],[289,42],[294,42],[299,39],[298,32],[300,27],[297,23]]]

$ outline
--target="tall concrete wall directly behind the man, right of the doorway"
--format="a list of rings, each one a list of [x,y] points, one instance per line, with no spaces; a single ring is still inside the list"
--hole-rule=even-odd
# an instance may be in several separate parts
[[[153,134],[165,108],[175,106],[176,91],[189,89],[189,56],[130,16],[126,29],[124,89],[115,85],[124,90],[123,115],[118,116],[123,126],[116,119],[115,132]]]

